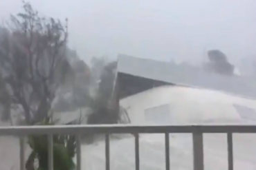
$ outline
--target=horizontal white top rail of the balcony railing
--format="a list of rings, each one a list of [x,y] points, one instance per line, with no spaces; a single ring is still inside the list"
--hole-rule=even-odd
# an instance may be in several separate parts
[[[0,127],[0,135],[132,134],[132,133],[256,133],[256,125],[44,125]]]

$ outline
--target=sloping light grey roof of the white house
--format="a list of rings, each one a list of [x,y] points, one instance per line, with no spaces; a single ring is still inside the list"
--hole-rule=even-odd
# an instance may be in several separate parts
[[[215,89],[256,98],[256,81],[252,78],[222,76],[190,65],[176,65],[175,63],[120,54],[118,56],[118,72],[176,85]]]

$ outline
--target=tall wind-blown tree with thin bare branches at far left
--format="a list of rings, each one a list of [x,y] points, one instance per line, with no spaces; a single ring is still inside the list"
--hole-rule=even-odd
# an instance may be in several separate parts
[[[51,109],[55,92],[64,81],[67,25],[39,17],[30,3],[11,17],[0,39],[0,71],[10,89],[12,104],[24,109],[26,123],[41,122]]]

